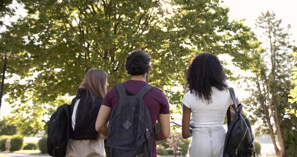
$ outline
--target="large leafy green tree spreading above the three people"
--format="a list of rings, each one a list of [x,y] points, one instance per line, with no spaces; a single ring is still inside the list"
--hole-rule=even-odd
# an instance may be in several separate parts
[[[115,85],[129,78],[124,72],[128,53],[143,49],[153,58],[148,82],[164,90],[180,109],[183,92],[171,89],[184,85],[192,56],[228,53],[247,69],[253,60],[250,50],[259,45],[243,21],[229,22],[229,9],[218,0],[22,3],[28,16],[8,28],[23,43],[16,46],[18,59],[8,69],[10,77],[20,78],[9,85],[11,103],[32,100],[44,106],[58,96],[75,95],[91,67],[107,71],[110,85]]]

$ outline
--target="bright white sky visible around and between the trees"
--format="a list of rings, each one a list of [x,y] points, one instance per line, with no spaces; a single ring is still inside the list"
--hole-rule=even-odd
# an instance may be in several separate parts
[[[225,0],[222,4],[230,8],[229,16],[231,19],[246,19],[245,24],[251,28],[255,28],[255,22],[257,17],[261,15],[261,12],[273,11],[278,19],[282,19],[284,25],[291,25],[290,33],[292,34],[292,40],[295,40],[297,44],[297,0]],[[20,9],[18,15],[26,15],[26,11]],[[16,19],[5,19],[5,22],[15,21]],[[254,30],[257,33],[257,30]],[[225,58],[222,56],[222,58]],[[222,59],[220,57],[220,59]],[[225,58],[230,59],[230,58]],[[239,98],[245,98],[247,92],[242,89],[236,88]],[[0,117],[8,115],[11,111],[10,105],[4,102],[1,107]]]

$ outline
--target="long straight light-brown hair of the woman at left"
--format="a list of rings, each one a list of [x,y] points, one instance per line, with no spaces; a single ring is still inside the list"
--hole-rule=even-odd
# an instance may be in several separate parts
[[[86,89],[88,92],[91,93],[91,96],[97,96],[103,99],[107,93],[106,90],[106,82],[107,82],[107,73],[104,70],[91,68],[83,82],[80,85],[80,88]]]

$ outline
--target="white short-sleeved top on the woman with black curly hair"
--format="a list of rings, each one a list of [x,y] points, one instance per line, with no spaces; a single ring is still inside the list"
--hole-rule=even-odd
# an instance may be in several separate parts
[[[191,109],[195,127],[223,126],[227,109],[233,105],[229,90],[219,91],[212,89],[212,102],[207,104],[204,99],[199,99],[188,91],[184,95],[183,104]]]

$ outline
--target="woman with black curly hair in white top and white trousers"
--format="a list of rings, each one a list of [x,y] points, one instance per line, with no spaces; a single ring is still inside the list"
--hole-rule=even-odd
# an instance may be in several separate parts
[[[191,59],[183,98],[182,136],[192,137],[190,156],[222,156],[227,109],[233,104],[226,73],[218,58],[201,53]],[[190,132],[190,116],[194,130]]]

